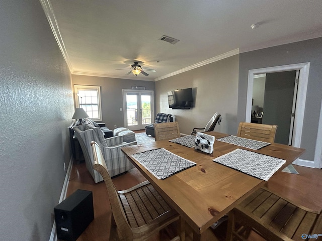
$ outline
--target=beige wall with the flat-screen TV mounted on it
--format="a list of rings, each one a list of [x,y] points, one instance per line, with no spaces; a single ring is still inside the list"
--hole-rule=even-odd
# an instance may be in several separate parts
[[[194,127],[205,127],[215,112],[222,123],[215,131],[237,133],[238,55],[155,82],[157,112],[172,113],[179,122],[180,132],[190,134]],[[193,88],[194,106],[191,109],[171,109],[167,91]]]

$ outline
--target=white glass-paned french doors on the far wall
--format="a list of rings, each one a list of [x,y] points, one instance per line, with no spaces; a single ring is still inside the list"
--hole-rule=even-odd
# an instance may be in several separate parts
[[[153,123],[153,91],[123,89],[124,127],[135,131]]]

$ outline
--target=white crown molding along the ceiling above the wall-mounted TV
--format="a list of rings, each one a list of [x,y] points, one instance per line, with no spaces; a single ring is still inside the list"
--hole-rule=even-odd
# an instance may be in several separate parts
[[[213,58],[206,59],[206,60],[204,60],[202,62],[199,62],[199,63],[193,64],[193,65],[190,65],[190,66],[185,67],[183,69],[179,69],[179,70],[177,70],[175,72],[172,72],[170,74],[166,74],[166,75],[157,77],[154,80],[155,81],[158,81],[158,80],[162,80],[162,79],[165,79],[165,78],[169,78],[171,76],[174,76],[174,75],[177,75],[177,74],[180,74],[180,73],[183,73],[183,72],[186,72],[186,71],[195,69],[195,68],[199,68],[201,66],[204,66],[204,65],[207,65],[207,64],[210,64],[210,63],[219,61],[221,59],[225,59],[225,58],[231,57],[231,56],[236,55],[236,54],[239,54],[239,49],[234,49],[234,50],[231,50],[231,51],[226,52],[224,54],[217,55],[217,56],[215,56]]]

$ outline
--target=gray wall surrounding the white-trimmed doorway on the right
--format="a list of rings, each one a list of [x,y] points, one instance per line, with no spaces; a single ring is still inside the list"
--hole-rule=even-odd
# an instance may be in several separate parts
[[[301,159],[314,160],[322,96],[322,38],[316,38],[239,54],[237,121],[245,121],[248,72],[250,69],[310,62]],[[321,138],[321,137],[319,137]]]

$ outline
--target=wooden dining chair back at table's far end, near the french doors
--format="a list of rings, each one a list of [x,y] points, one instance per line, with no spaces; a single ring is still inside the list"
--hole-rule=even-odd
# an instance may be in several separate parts
[[[155,141],[180,137],[178,122],[154,123]]]

